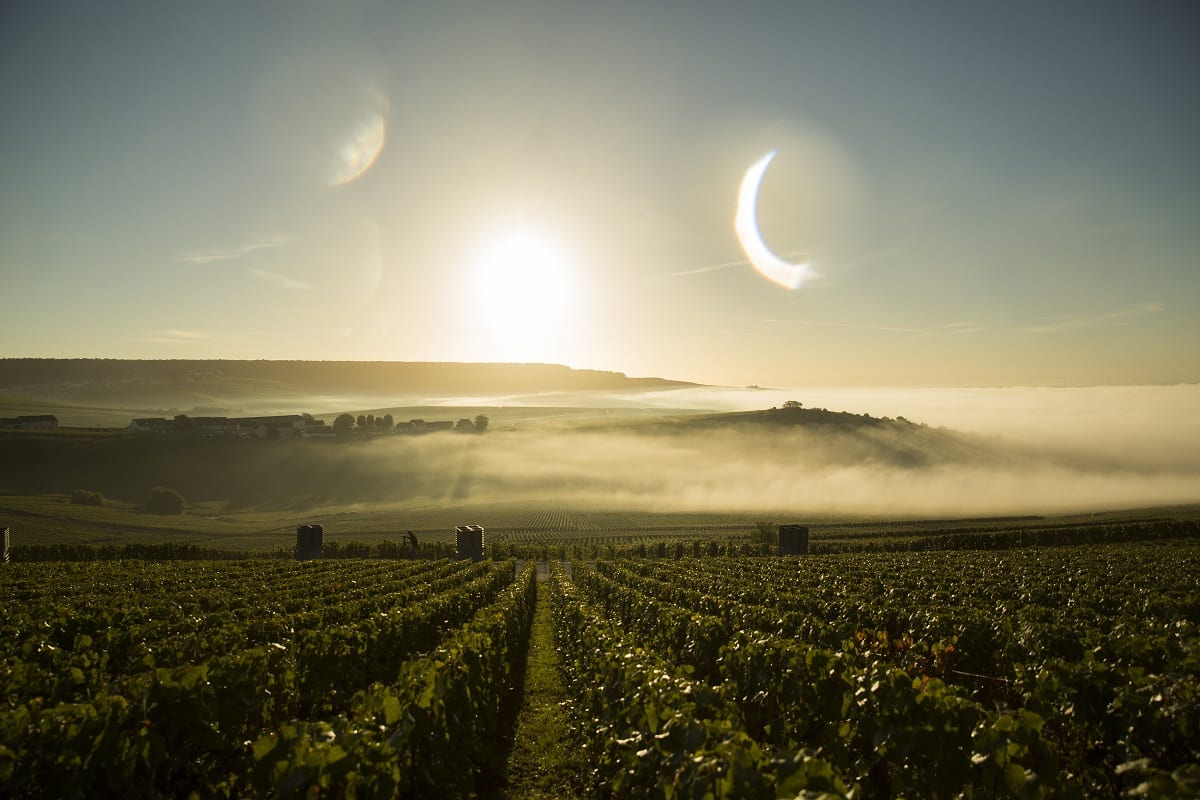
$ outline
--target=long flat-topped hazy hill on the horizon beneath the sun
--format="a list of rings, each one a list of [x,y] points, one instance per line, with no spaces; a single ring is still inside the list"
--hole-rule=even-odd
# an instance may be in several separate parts
[[[0,395],[136,408],[288,404],[312,397],[647,391],[695,386],[550,363],[2,359]]]

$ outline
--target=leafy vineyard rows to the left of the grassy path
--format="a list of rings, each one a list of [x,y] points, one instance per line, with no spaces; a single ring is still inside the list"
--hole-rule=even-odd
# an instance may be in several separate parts
[[[511,714],[534,588],[511,561],[11,565],[0,786],[468,790]]]

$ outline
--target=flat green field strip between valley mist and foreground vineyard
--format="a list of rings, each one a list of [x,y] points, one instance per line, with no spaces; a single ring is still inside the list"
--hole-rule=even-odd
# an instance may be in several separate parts
[[[319,522],[335,546],[397,543],[407,531],[422,542],[451,542],[461,524],[481,524],[494,551],[517,558],[595,558],[638,547],[672,548],[683,543],[749,545],[762,541],[760,525],[772,530],[799,522],[811,530],[815,552],[863,549],[950,549],[990,547],[983,539],[1018,543],[1061,543],[1063,531],[1079,541],[1127,541],[1156,535],[1178,522],[1200,521],[1200,506],[1170,506],[1090,512],[964,519],[864,518],[850,515],[805,515],[788,511],[668,512],[595,510],[562,500],[510,503],[419,504],[396,501],[324,505],[293,511],[230,509],[209,500],[190,504],[185,513],[146,512],[140,504],[106,499],[102,506],[76,505],[67,494],[0,494],[0,525],[12,530],[14,558],[20,548],[122,545],[188,545],[247,554],[290,554],[296,525]],[[1128,530],[1123,530],[1128,528]],[[1056,533],[1057,531],[1057,533]],[[1021,537],[1025,537],[1024,540]],[[1032,539],[1031,539],[1032,537]],[[1004,545],[1012,546],[1012,543]],[[544,552],[545,548],[545,552]],[[644,553],[643,553],[644,554]]]

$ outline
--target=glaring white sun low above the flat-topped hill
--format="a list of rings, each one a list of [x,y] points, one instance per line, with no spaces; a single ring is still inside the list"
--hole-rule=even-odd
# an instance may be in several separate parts
[[[472,261],[469,281],[488,359],[562,357],[575,287],[571,265],[552,239],[527,229],[494,236]]]

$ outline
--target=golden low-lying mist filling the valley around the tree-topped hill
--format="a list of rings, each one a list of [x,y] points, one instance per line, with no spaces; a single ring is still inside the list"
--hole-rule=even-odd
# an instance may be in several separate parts
[[[590,395],[588,403],[600,398]],[[992,516],[1200,501],[1200,386],[686,389],[612,405],[826,407],[901,422],[845,427],[521,429],[374,443],[420,465],[431,500],[575,507]],[[475,404],[536,398],[472,398]],[[566,405],[557,393],[548,404]],[[944,429],[941,426],[946,426]],[[440,497],[437,497],[440,495]]]

